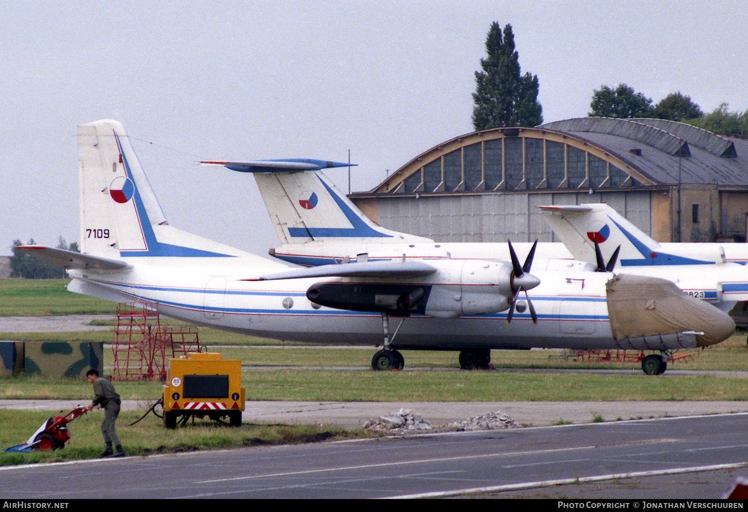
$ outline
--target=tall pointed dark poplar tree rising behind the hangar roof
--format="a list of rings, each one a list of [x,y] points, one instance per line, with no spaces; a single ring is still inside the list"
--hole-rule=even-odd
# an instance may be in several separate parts
[[[538,77],[521,75],[512,25],[506,25],[502,33],[497,22],[491,23],[485,49],[488,57],[480,59],[482,71],[475,73],[473,127],[481,130],[542,124]]]

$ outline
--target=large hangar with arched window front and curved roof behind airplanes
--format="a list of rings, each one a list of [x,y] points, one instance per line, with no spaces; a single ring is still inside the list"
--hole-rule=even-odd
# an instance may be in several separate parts
[[[748,138],[657,119],[489,129],[349,197],[386,228],[440,242],[552,242],[538,206],[597,202],[660,242],[744,242]]]

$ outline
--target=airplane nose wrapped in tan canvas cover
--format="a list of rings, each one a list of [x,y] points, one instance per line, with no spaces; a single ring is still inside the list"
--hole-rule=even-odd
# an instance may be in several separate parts
[[[696,347],[707,347],[735,332],[729,314],[687,295],[666,279],[616,275],[608,281],[607,302],[616,339],[696,331],[703,333],[696,335]]]

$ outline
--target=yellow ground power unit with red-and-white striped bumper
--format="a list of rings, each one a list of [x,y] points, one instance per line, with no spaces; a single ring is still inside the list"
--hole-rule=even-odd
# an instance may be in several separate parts
[[[164,426],[186,424],[190,416],[221,421],[232,427],[242,424],[245,391],[242,362],[221,359],[218,353],[188,353],[169,361],[168,384],[164,386]]]

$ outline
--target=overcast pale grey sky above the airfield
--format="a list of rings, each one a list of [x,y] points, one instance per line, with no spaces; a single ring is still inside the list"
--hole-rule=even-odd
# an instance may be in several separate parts
[[[200,159],[346,161],[354,191],[471,132],[491,22],[545,121],[625,82],[748,109],[741,1],[0,0],[0,255],[78,240],[76,126],[122,122],[174,226],[266,254],[254,179]],[[328,173],[347,189],[347,172]]]

